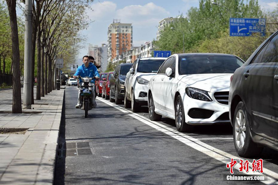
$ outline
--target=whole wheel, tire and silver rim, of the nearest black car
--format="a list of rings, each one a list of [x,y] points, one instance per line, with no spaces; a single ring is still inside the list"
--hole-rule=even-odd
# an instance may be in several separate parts
[[[263,147],[257,146],[257,144],[252,141],[249,119],[242,101],[238,103],[234,112],[233,137],[235,149],[241,157],[256,157],[263,150]]]

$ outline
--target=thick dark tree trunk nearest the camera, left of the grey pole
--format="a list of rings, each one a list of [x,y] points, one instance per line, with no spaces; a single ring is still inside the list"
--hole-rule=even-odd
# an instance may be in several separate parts
[[[22,113],[21,108],[21,85],[20,85],[20,70],[19,70],[19,41],[18,28],[16,18],[16,0],[6,0],[11,23],[11,40],[13,51],[13,107],[12,113]]]

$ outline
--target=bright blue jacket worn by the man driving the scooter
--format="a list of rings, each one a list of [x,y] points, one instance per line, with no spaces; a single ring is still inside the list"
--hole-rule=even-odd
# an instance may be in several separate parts
[[[95,65],[91,62],[89,62],[89,66],[86,68],[84,64],[79,66],[73,76],[81,76],[81,77],[99,77],[99,72]],[[79,82],[82,82],[81,78],[79,78]],[[95,83],[95,79],[91,81],[91,83]]]

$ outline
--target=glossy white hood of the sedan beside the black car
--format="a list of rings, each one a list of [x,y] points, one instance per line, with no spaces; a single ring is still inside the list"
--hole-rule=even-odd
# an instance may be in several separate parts
[[[186,83],[190,87],[210,92],[212,88],[230,87],[231,75],[227,73],[180,75],[178,80]]]

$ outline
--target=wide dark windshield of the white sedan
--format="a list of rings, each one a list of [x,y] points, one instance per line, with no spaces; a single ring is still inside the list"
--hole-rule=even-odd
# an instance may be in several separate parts
[[[235,56],[183,56],[180,57],[181,75],[205,73],[234,73],[243,65]]]

